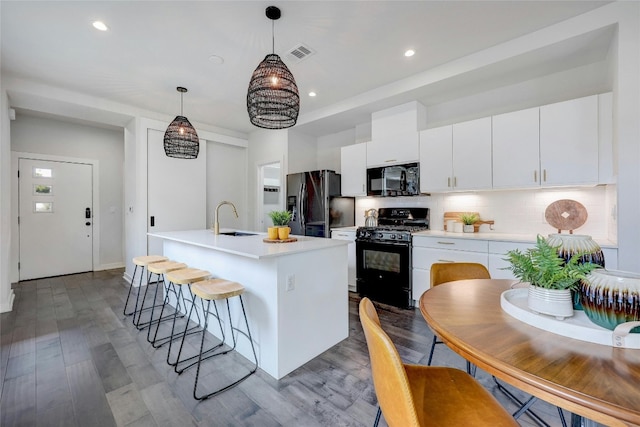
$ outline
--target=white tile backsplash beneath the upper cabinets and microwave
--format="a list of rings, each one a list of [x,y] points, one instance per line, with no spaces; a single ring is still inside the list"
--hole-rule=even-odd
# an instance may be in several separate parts
[[[431,229],[444,229],[444,212],[479,212],[483,220],[494,220],[494,233],[542,234],[557,232],[545,219],[545,210],[552,202],[571,199],[587,210],[587,221],[574,230],[596,239],[617,242],[616,186],[557,188],[544,190],[484,191],[433,194],[419,197],[361,197],[356,200],[356,225],[364,225],[364,212],[381,207],[428,207],[431,209]],[[490,231],[482,225],[480,231]]]

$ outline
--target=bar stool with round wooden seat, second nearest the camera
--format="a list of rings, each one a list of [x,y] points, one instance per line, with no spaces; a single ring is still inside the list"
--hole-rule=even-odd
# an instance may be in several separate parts
[[[199,282],[201,280],[205,280],[209,277],[211,277],[211,273],[209,273],[208,271],[205,270],[199,270],[197,268],[183,268],[182,270],[174,270],[174,271],[170,271],[165,275],[166,279],[169,281],[169,286],[173,287],[173,291],[175,292],[175,286],[178,285],[178,292],[176,293],[176,310],[173,313],[173,323],[171,325],[171,334],[167,337],[165,337],[164,342],[162,344],[164,344],[165,342],[169,343],[169,351],[167,352],[167,363],[171,366],[175,366],[178,361],[180,360],[180,351],[182,350],[182,345],[180,346],[180,351],[178,352],[178,356],[176,357],[176,361],[172,362],[171,361],[171,346],[173,341],[175,341],[176,339],[179,339],[181,337],[184,337],[184,335],[187,335],[191,332],[194,332],[198,329],[199,325],[200,325],[200,315],[198,314],[198,311],[196,310],[196,316],[198,317],[198,324],[196,326],[193,326],[191,328],[189,328],[189,321],[191,320],[191,312],[193,311],[193,305],[194,305],[194,297],[193,297],[193,293],[191,292],[191,284],[192,283],[196,283]],[[191,310],[189,311],[189,317],[187,317],[187,322],[185,324],[185,328],[184,328],[184,332],[183,333],[176,333],[176,319],[178,318],[178,302],[182,299],[182,302],[184,303],[185,306],[185,313],[186,313],[186,309],[187,309],[187,303],[186,301],[188,300],[187,298],[185,298],[185,293],[183,292],[182,288],[186,286],[187,289],[189,290],[189,296],[191,297],[191,299],[189,300],[191,302]],[[167,297],[168,297],[168,293],[167,293]],[[165,298],[165,305],[168,302],[168,298]],[[157,332],[157,329],[156,329]],[[160,345],[162,345],[160,344]],[[159,345],[159,346],[160,346]],[[158,347],[159,347],[158,346]],[[155,344],[154,344],[154,348]]]

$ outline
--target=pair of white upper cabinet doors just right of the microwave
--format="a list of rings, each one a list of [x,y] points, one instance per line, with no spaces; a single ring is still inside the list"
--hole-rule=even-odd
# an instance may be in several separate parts
[[[420,133],[420,191],[491,189],[491,118]]]

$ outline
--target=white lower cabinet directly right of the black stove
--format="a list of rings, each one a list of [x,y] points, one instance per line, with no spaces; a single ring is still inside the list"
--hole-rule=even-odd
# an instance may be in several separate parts
[[[413,299],[431,287],[431,265],[436,262],[477,262],[487,266],[488,242],[448,237],[414,236],[412,250]]]

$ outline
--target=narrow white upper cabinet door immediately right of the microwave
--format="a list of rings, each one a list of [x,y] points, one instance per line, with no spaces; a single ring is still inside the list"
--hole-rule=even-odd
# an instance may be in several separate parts
[[[420,192],[452,191],[453,126],[420,132]]]

